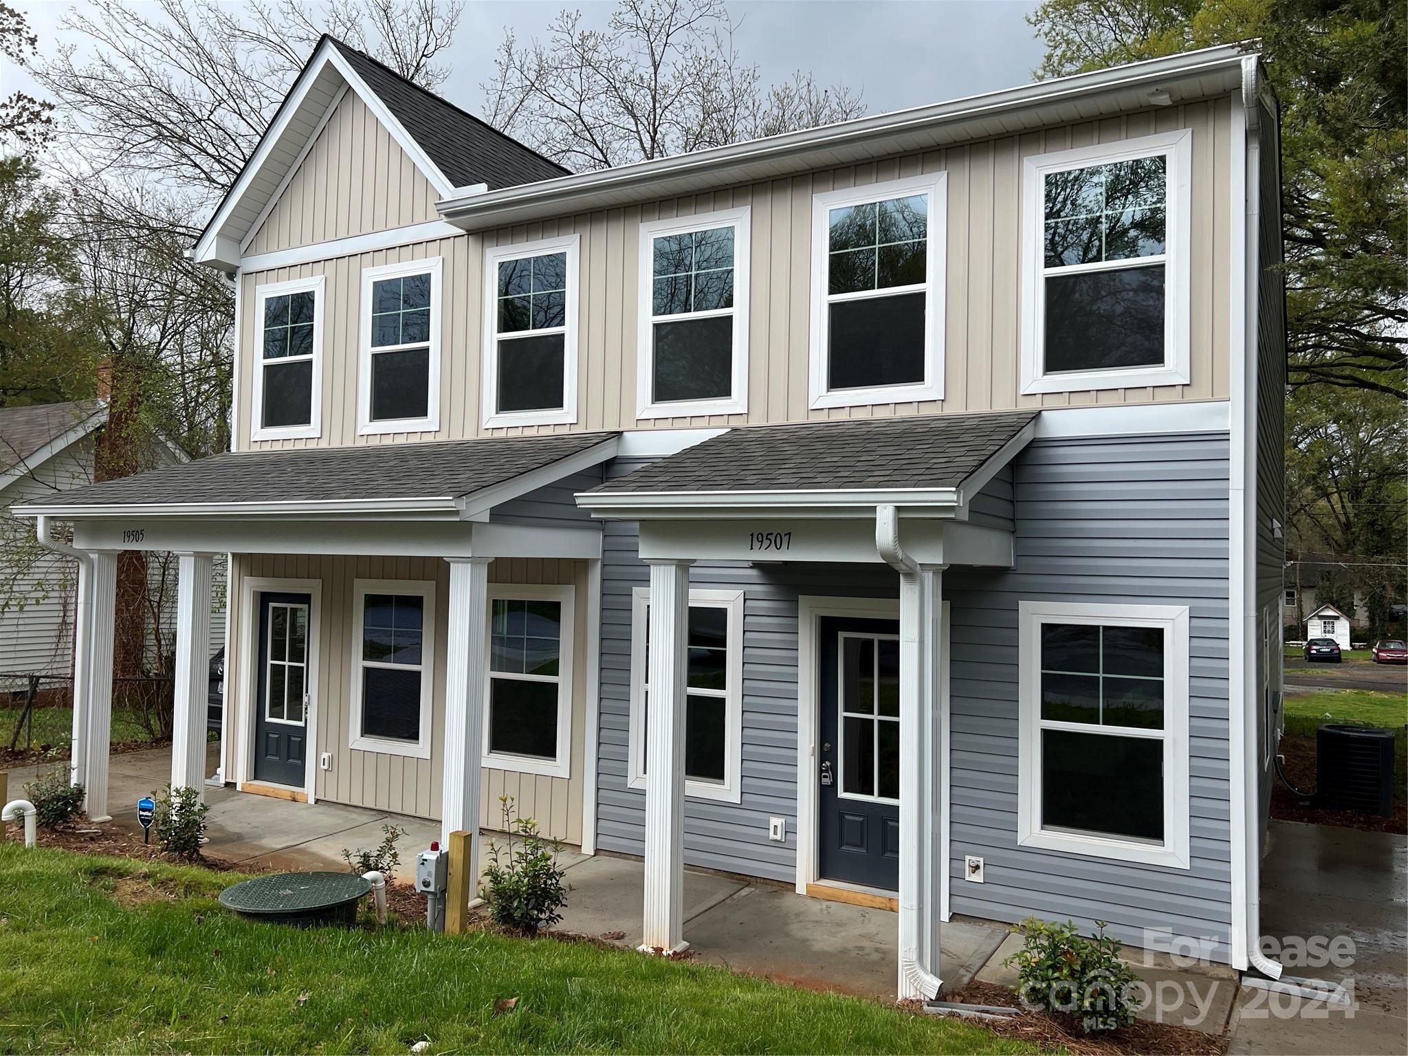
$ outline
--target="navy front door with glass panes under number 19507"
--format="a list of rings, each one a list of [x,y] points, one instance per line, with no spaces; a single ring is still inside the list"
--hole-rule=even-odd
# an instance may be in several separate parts
[[[900,887],[900,625],[821,621],[821,876]]]

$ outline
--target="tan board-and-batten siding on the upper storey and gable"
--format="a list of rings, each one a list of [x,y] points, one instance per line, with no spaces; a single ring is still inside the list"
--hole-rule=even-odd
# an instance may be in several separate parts
[[[351,96],[344,99],[344,106],[348,99]],[[334,117],[335,120],[324,130],[324,137],[328,137],[332,128],[342,128],[338,115]],[[1177,128],[1193,131],[1191,382],[1186,386],[1155,389],[1021,396],[1018,298],[1022,158]],[[398,148],[389,144],[389,151],[386,172],[404,173],[407,162],[404,156],[396,156]],[[238,372],[237,406],[241,415],[237,429],[238,444],[241,448],[338,446],[480,435],[484,432],[480,427],[483,246],[486,242],[517,244],[572,232],[579,234],[582,239],[577,422],[570,427],[529,427],[507,432],[690,428],[1012,407],[1222,400],[1229,393],[1226,282],[1232,230],[1229,153],[1231,101],[1219,99],[1153,108],[1104,121],[1087,121],[1045,132],[988,139],[922,155],[828,169],[642,207],[563,217],[487,235],[456,235],[293,268],[249,272],[241,279],[241,334],[245,353],[241,356]],[[390,215],[383,208],[384,203],[366,206],[367,197],[376,201],[384,199],[390,186],[380,182],[376,176],[377,169],[367,168],[372,165],[373,162],[367,159],[353,163],[341,146],[321,149],[320,144],[290,182],[290,191],[275,207],[270,221],[277,215],[280,230],[314,232],[301,235],[304,241],[294,241],[294,245],[375,231],[380,230],[379,224],[391,225],[383,220]],[[376,161],[375,165],[383,163]],[[345,166],[352,166],[355,170],[355,179],[351,182],[342,179]],[[304,169],[308,172],[304,173]],[[808,359],[812,194],[921,172],[948,173],[945,398],[811,410]],[[404,180],[404,176],[398,179]],[[344,200],[339,196],[348,197]],[[415,200],[411,194],[413,204]],[[659,217],[690,215],[743,204],[752,208],[748,414],[638,422],[635,363],[639,224]],[[310,210],[314,213],[311,218],[307,215]],[[329,215],[338,218],[356,215],[358,221],[329,227]],[[424,218],[434,217],[413,210],[407,214],[406,222],[418,222]],[[256,241],[265,237],[260,231]],[[356,363],[362,269],[436,255],[445,259],[441,428],[434,434],[358,436]],[[325,307],[328,331],[324,337],[321,377],[322,435],[318,439],[251,444],[248,436],[252,349],[258,335],[255,287],[314,275],[328,276]],[[496,429],[496,432],[505,431]]]

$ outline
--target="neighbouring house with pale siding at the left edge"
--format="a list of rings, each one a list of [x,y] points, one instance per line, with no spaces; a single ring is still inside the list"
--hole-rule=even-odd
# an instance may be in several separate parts
[[[24,690],[31,674],[68,679],[73,672],[73,560],[38,549],[32,525],[17,522],[10,508],[89,487],[94,442],[106,422],[101,400],[0,408],[0,693]],[[158,458],[163,465],[187,460],[169,444],[159,446]],[[153,563],[153,583],[159,574]],[[175,611],[170,591],[162,610],[168,634]],[[224,645],[222,608],[211,617],[210,641],[211,652]]]

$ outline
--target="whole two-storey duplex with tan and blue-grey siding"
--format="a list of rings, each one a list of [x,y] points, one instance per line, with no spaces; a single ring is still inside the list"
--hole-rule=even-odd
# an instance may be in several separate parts
[[[645,856],[648,946],[690,863],[893,900],[905,997],[950,914],[1245,967],[1277,128],[1224,46],[569,175],[324,39],[193,251],[238,282],[234,451],[28,514],[183,551],[183,627],[234,553],[238,788],[513,796]]]

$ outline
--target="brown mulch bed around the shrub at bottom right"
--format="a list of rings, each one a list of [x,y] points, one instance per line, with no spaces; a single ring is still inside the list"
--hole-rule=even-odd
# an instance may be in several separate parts
[[[1018,1008],[1017,1015],[998,1019],[972,1019],[1004,1038],[1019,1038],[1043,1049],[1064,1048],[1074,1056],[1135,1056],[1135,1053],[1170,1053],[1170,1056],[1222,1056],[1226,1038],[1187,1026],[1153,1024],[1139,1019],[1108,1033],[1086,1033],[1080,1021],[1066,1012],[1028,1012],[1010,987],[995,983],[969,983],[943,995],[945,1001],[972,1005]]]

